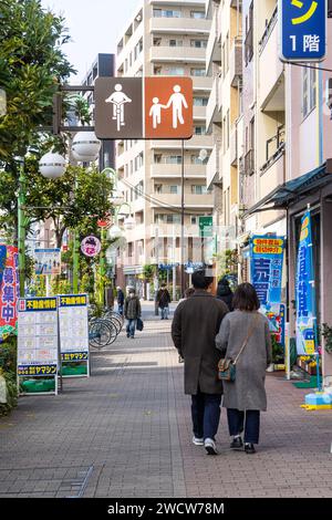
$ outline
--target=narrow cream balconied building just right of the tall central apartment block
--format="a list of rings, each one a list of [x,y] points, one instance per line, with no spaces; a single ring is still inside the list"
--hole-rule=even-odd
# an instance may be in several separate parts
[[[214,225],[218,252],[236,247],[239,217],[239,144],[242,92],[242,13],[240,0],[207,0],[211,31],[206,71],[212,74],[207,106],[207,131],[214,148],[207,165],[207,186],[212,188]],[[240,145],[241,149],[241,145]]]

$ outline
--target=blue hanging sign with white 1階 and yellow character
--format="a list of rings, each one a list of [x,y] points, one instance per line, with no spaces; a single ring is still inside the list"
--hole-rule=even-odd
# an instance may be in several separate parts
[[[279,0],[280,59],[322,61],[326,53],[326,0]]]

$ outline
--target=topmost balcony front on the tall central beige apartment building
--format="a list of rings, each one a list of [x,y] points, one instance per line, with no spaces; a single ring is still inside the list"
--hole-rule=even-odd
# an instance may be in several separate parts
[[[149,20],[149,31],[158,33],[208,34],[210,25],[210,20],[195,18],[152,18]]]

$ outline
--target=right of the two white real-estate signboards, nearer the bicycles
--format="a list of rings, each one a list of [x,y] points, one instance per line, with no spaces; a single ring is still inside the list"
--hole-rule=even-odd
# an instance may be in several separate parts
[[[62,375],[64,377],[75,375],[89,376],[87,295],[60,295],[59,323]],[[85,362],[83,363],[84,366],[82,366],[82,362]],[[68,365],[69,368],[63,364]],[[80,365],[81,370],[79,368]]]

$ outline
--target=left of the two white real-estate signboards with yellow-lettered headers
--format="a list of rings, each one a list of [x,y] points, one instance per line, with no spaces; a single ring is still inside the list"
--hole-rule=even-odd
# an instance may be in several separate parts
[[[48,376],[48,392],[58,394],[59,331],[56,298],[19,299],[18,377],[23,392],[34,393],[38,377]],[[50,378],[52,381],[50,381]],[[35,393],[38,389],[35,389]],[[40,392],[40,391],[39,391]]]

